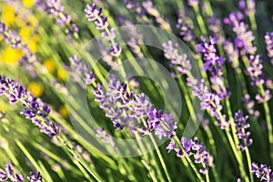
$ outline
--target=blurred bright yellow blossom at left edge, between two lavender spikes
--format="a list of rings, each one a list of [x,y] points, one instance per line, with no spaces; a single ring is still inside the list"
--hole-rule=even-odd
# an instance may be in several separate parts
[[[0,55],[0,61],[4,61],[7,64],[18,64],[18,60],[24,56],[24,53],[20,49],[14,49],[12,47],[6,47]]]

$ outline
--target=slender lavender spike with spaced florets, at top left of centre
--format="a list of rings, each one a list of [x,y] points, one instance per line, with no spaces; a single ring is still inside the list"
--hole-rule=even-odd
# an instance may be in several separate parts
[[[105,32],[102,33],[102,36],[106,40],[110,40],[110,46],[109,52],[112,56],[119,56],[122,48],[120,45],[115,43],[115,37],[116,33],[114,29],[109,30],[108,29],[108,21],[107,16],[102,15],[102,7],[96,8],[96,5],[87,5],[86,9],[86,17],[88,18],[88,21],[93,22],[95,21],[96,28],[98,30],[105,30]]]

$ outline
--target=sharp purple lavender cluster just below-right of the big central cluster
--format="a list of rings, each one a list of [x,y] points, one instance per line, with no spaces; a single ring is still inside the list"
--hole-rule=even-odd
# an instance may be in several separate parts
[[[195,163],[202,164],[203,168],[199,171],[202,174],[208,172],[208,167],[214,167],[213,157],[207,152],[207,147],[203,143],[199,144],[198,138],[187,139],[186,137],[181,138],[181,145],[183,148],[176,147],[174,140],[171,140],[169,145],[166,147],[167,152],[175,150],[177,157],[190,157],[194,156]]]

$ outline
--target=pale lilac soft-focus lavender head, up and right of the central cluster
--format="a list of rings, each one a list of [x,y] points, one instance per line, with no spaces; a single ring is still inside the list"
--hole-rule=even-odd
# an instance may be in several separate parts
[[[171,61],[170,66],[174,67],[178,73],[173,73],[174,76],[184,75],[191,70],[191,63],[187,59],[187,55],[179,55],[178,53],[178,44],[175,44],[173,41],[168,41],[163,45],[164,56]]]

